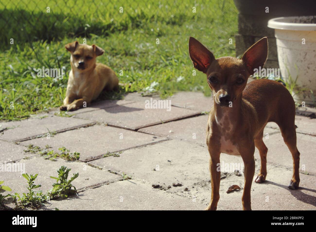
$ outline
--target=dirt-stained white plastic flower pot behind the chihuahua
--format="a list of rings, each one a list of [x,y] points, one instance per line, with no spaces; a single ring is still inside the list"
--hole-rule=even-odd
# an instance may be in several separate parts
[[[296,80],[292,92],[294,100],[300,104],[314,104],[316,16],[274,18],[268,21],[268,27],[275,29],[277,55],[283,79],[287,83]]]

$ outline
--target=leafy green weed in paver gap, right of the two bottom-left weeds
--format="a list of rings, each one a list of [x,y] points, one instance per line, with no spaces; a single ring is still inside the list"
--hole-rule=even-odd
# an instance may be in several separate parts
[[[53,184],[53,188],[48,192],[51,199],[58,197],[66,198],[71,194],[77,193],[76,187],[73,186],[71,182],[79,176],[79,173],[74,174],[70,180],[67,180],[70,170],[71,169],[66,166],[61,166],[59,170],[57,170],[58,177],[51,176],[51,178],[57,180],[57,182]]]

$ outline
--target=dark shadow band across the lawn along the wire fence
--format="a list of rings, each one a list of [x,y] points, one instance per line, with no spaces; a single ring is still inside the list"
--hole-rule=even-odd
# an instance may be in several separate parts
[[[104,10],[104,9],[102,9]],[[187,15],[180,13],[173,17],[148,15],[143,11],[127,14],[119,21],[105,21],[103,13],[94,12],[87,16],[81,12],[46,13],[32,12],[24,9],[0,9],[0,41],[3,41],[0,51],[10,48],[10,41],[23,47],[24,43],[43,40],[59,41],[65,37],[90,38],[91,35],[109,36],[114,32],[127,31],[141,27],[144,29],[148,22],[162,21],[167,25],[181,25]],[[192,16],[192,18],[194,18]],[[161,36],[158,32],[157,36]]]

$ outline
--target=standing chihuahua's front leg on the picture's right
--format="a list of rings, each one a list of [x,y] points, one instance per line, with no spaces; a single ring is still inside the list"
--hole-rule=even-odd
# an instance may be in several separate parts
[[[255,160],[254,160],[254,154],[255,152],[255,146],[252,144],[252,146],[249,147],[249,149],[245,149],[242,151],[242,159],[245,164],[245,185],[244,185],[244,192],[242,194],[242,206],[243,210],[251,210],[251,184],[253,180],[253,176],[255,174]]]

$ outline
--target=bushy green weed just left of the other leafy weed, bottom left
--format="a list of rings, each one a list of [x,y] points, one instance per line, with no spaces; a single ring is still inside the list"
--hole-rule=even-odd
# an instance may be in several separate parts
[[[22,176],[27,180],[28,184],[28,193],[23,193],[21,197],[19,194],[15,193],[13,199],[19,198],[21,201],[21,205],[29,206],[31,208],[38,208],[43,205],[43,203],[47,200],[47,196],[43,194],[43,191],[34,191],[35,188],[41,187],[41,185],[35,185],[34,181],[38,174],[28,175],[27,173],[22,174]]]

